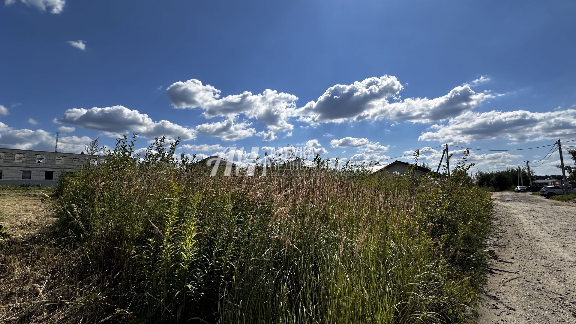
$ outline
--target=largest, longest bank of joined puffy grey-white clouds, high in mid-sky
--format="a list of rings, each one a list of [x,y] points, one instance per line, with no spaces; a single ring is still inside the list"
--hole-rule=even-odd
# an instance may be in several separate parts
[[[487,80],[490,78],[481,76],[432,99],[401,99],[400,92],[404,86],[397,77],[370,77],[349,85],[330,86],[317,100],[300,108],[296,105],[298,97],[290,93],[266,89],[257,94],[245,91],[222,96],[220,89],[196,79],[173,83],[166,89],[166,95],[175,108],[198,108],[205,118],[235,119],[242,114],[243,118],[256,119],[266,124],[268,130],[278,133],[292,130],[291,120],[310,124],[300,126],[303,129],[319,123],[359,120],[438,122],[473,110],[495,97],[489,91],[475,92],[472,89]]]

